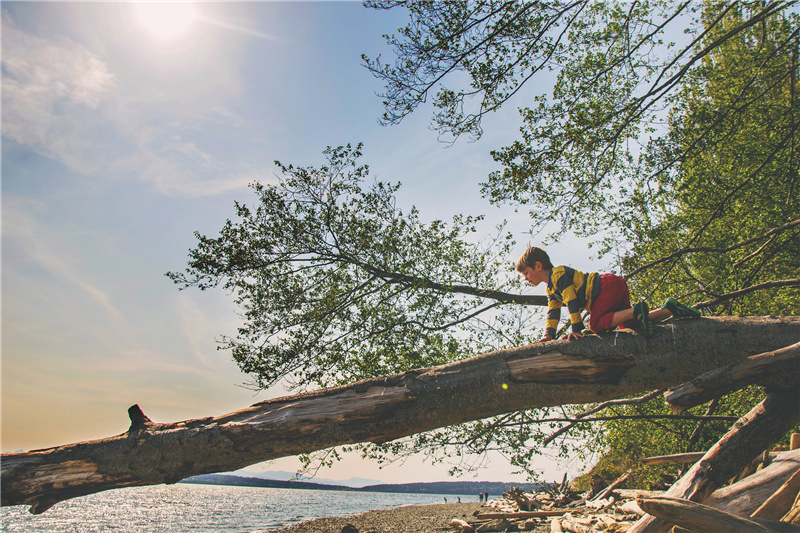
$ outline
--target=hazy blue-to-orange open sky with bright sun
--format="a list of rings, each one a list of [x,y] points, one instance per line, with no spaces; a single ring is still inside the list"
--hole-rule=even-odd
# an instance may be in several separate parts
[[[378,124],[381,86],[361,54],[407,14],[357,2],[2,2],[2,451],[123,433],[139,404],[156,422],[216,416],[255,394],[216,338],[239,324],[230,295],[178,291],[194,231],[214,235],[274,182],[275,160],[320,165],[364,142],[423,220],[485,213],[527,246],[530,219],[490,206],[489,151],[515,139],[507,105],[478,142],[438,142],[430,108]],[[524,94],[520,96],[523,98]],[[512,103],[513,104],[513,103]],[[534,243],[536,244],[536,243]],[[593,266],[579,239],[550,247]],[[543,293],[543,288],[529,289]],[[357,456],[319,474],[438,481],[420,458],[383,469]],[[293,471],[296,458],[252,471]],[[561,479],[574,464],[543,461]],[[499,456],[464,479],[522,480]]]

